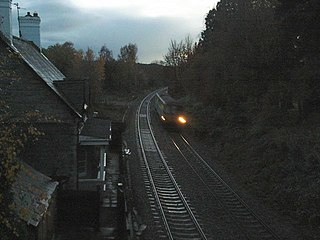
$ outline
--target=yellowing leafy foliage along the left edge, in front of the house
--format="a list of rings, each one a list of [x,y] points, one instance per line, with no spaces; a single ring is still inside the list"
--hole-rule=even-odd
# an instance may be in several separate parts
[[[20,169],[19,152],[24,144],[36,139],[42,133],[32,122],[38,118],[38,113],[26,113],[24,116],[14,116],[5,102],[0,102],[0,236],[1,239],[18,239],[23,230],[16,215],[12,184]]]

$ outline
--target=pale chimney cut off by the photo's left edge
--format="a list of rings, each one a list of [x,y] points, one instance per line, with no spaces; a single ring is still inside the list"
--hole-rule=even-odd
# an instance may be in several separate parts
[[[12,0],[0,0],[0,31],[10,42],[12,42],[11,2]]]

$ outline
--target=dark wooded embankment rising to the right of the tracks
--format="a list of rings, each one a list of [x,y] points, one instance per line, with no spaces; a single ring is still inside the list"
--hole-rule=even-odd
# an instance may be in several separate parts
[[[187,61],[172,65],[190,131],[304,239],[320,224],[319,10],[315,0],[221,0]]]

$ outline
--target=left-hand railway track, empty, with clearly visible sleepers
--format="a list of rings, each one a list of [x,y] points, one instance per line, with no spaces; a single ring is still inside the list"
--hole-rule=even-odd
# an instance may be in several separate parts
[[[196,214],[184,197],[167,165],[153,135],[150,124],[149,94],[137,111],[137,141],[141,147],[141,159],[145,169],[144,179],[152,209],[163,231],[157,233],[163,239],[207,239]]]

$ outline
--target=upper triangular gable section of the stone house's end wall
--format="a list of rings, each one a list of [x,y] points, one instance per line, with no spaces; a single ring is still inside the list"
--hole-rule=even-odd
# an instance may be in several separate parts
[[[1,99],[12,111],[35,111],[73,122],[73,111],[16,53],[0,40]]]

